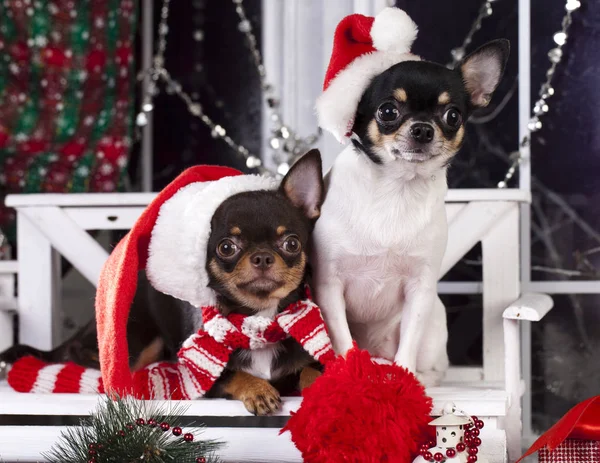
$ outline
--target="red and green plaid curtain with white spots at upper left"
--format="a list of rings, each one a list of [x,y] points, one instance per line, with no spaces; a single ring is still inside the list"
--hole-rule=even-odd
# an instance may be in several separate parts
[[[135,0],[0,1],[0,193],[111,192],[134,110]],[[13,212],[0,208],[0,228]]]

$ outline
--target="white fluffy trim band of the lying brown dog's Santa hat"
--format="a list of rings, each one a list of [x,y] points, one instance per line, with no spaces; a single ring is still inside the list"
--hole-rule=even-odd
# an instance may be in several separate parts
[[[277,181],[259,175],[224,177],[183,187],[160,208],[148,246],[146,274],[158,291],[195,307],[212,305],[206,247],[217,208],[233,195],[274,190]]]

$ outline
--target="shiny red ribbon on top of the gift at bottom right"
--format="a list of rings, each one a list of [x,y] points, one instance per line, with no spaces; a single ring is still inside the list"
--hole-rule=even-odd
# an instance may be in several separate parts
[[[600,396],[575,405],[558,423],[542,434],[517,463],[542,449],[552,453],[566,439],[600,441]]]

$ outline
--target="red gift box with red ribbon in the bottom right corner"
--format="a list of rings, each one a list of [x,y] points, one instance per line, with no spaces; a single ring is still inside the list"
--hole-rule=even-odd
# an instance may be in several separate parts
[[[600,396],[577,404],[525,452],[539,463],[600,463]]]

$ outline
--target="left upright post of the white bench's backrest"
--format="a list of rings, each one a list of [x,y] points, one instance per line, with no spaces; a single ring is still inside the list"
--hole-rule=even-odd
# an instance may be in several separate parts
[[[61,338],[60,255],[35,223],[17,211],[19,342],[50,350]]]

